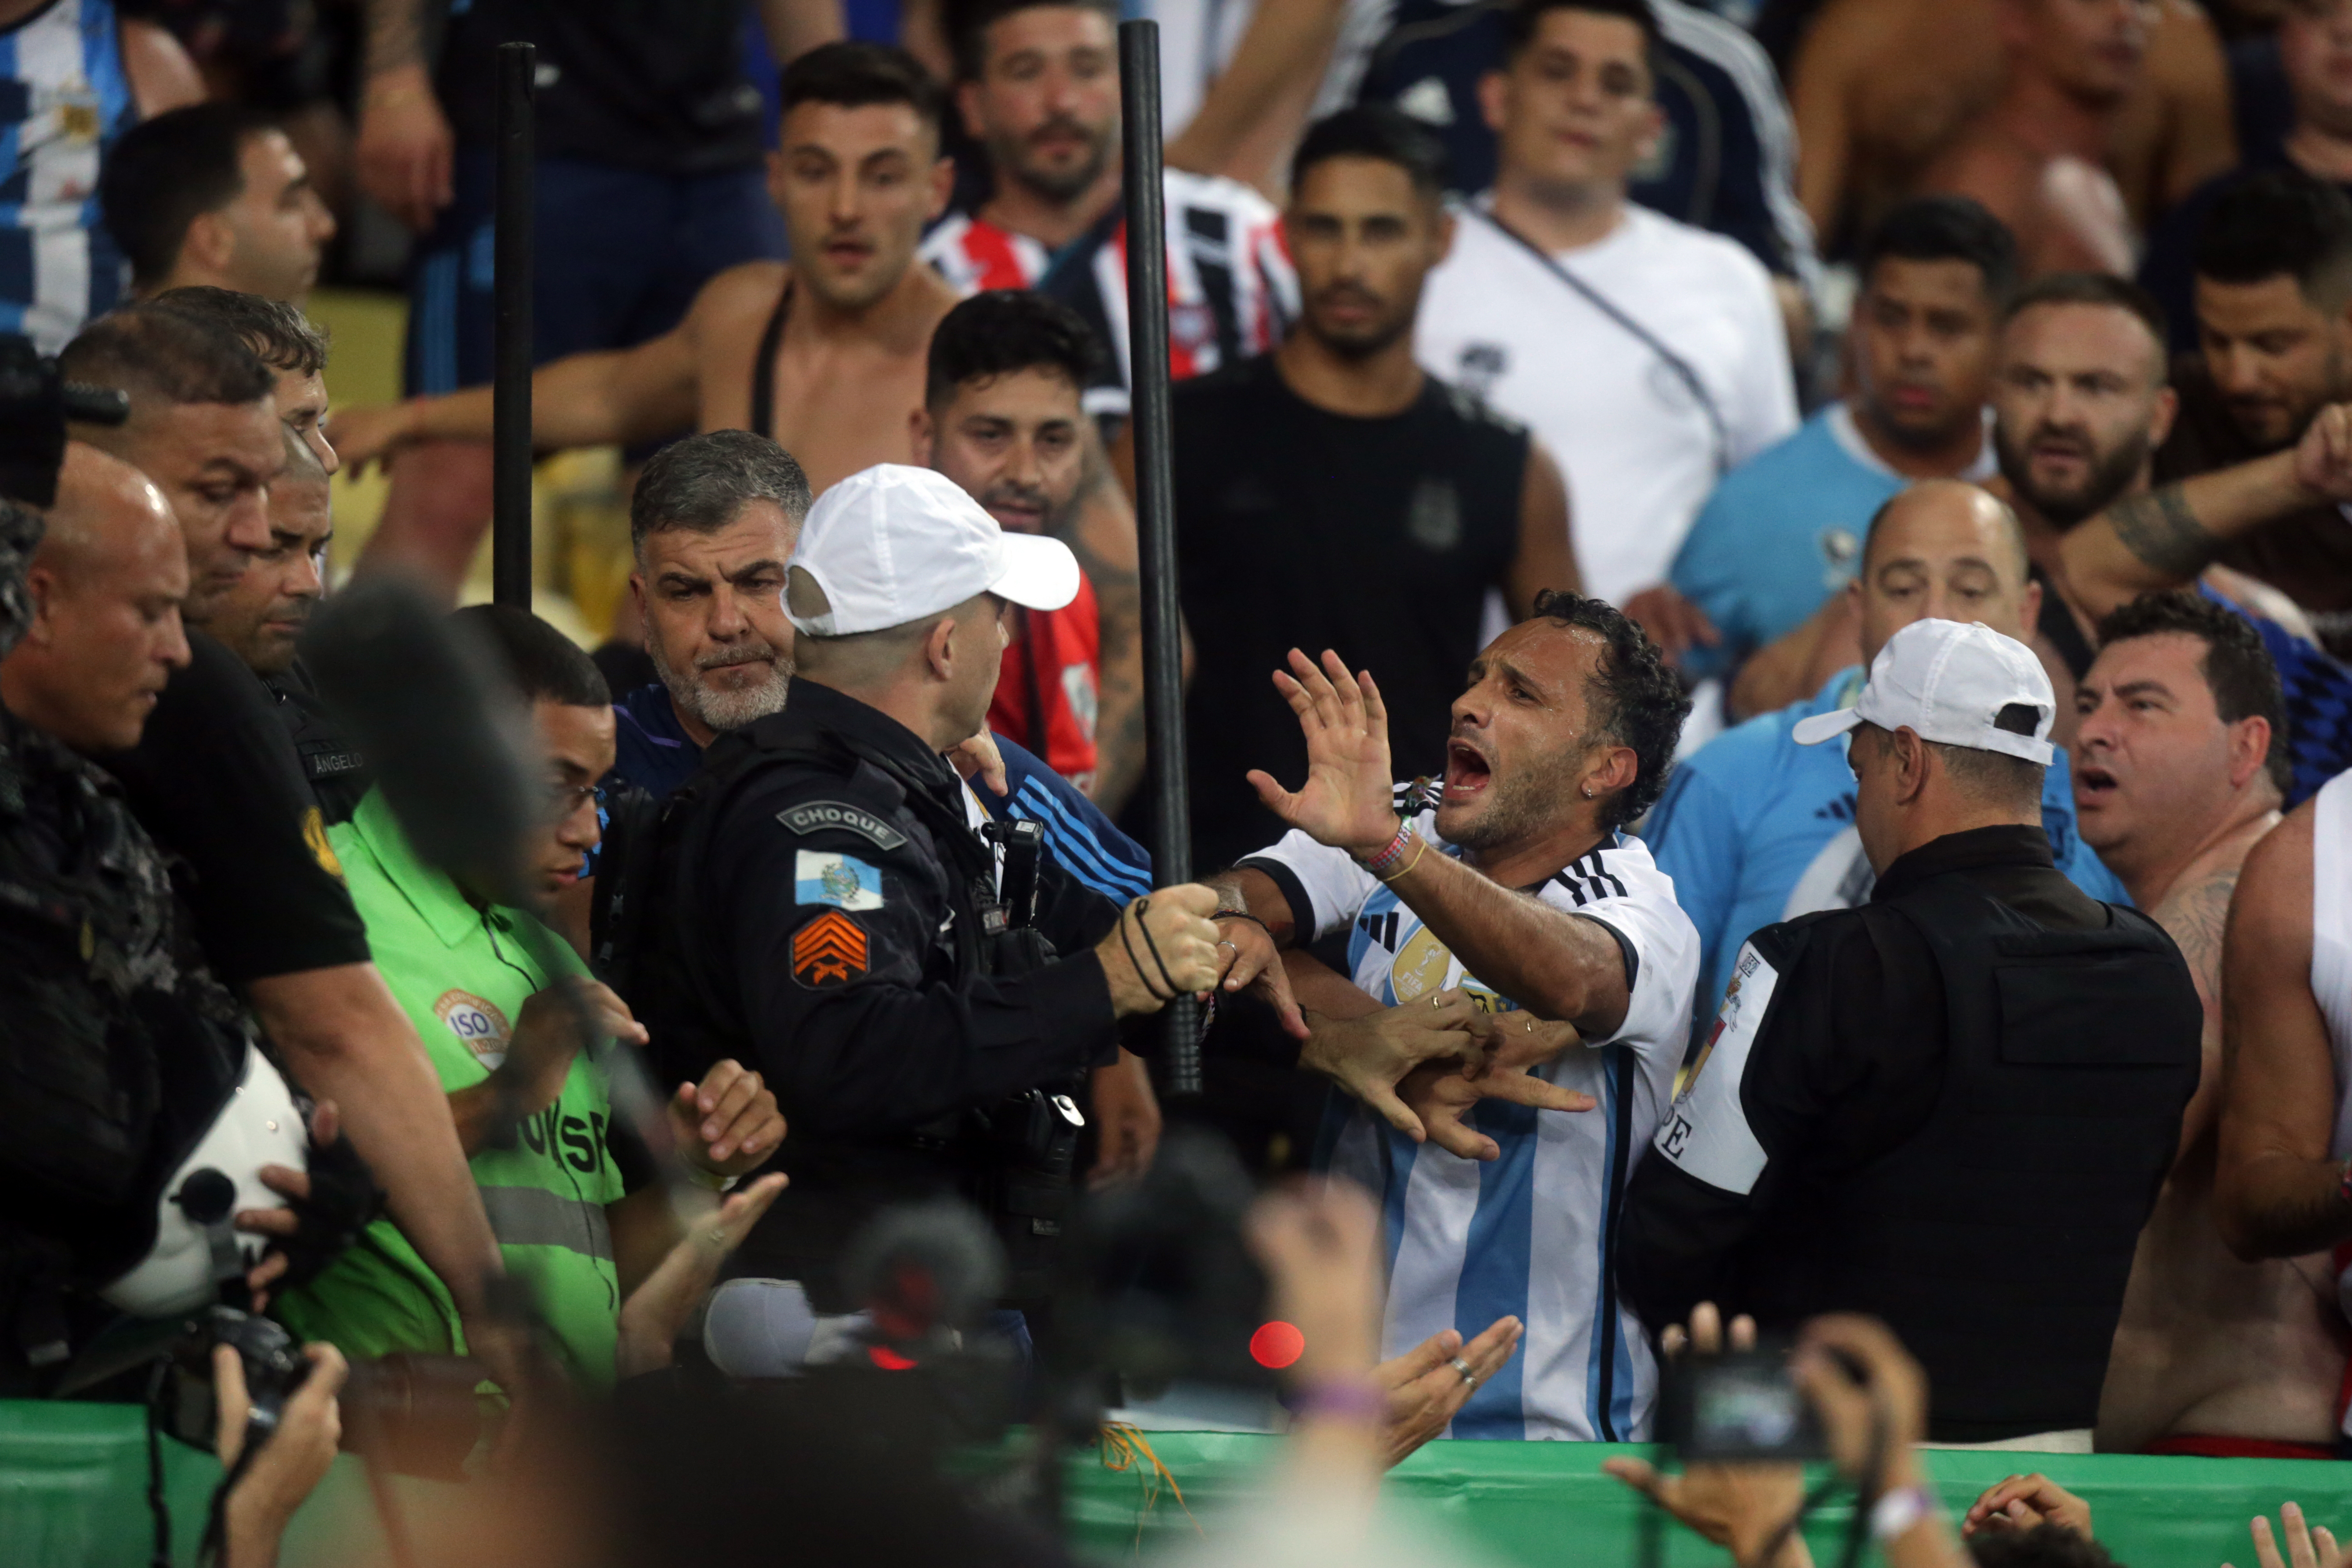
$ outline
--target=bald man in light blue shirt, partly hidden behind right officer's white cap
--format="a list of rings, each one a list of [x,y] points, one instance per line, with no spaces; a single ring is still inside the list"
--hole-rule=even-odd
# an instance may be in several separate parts
[[[1797,722],[1851,708],[1870,661],[1912,621],[1983,621],[2023,639],[2042,614],[2016,512],[1959,480],[1912,484],[1879,508],[1846,597],[1860,621],[1863,663],[1698,748],[1675,769],[1642,827],[1698,926],[1705,976],[1698,992],[1710,1018],[1750,931],[1870,898],[1875,877],[1853,827],[1853,771],[1837,745],[1797,745],[1790,733]],[[2091,898],[2126,903],[2124,884],[2074,832],[2072,790],[2067,757],[2058,752],[2042,780],[2051,856]]]

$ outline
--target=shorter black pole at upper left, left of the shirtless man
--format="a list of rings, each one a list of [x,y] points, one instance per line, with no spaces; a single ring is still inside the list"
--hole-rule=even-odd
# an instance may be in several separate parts
[[[532,165],[539,49],[499,45],[489,592],[532,607]]]

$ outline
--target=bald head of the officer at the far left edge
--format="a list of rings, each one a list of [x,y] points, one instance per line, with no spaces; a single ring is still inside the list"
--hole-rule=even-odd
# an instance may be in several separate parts
[[[0,658],[0,703],[85,755],[139,745],[158,693],[188,663],[188,550],[155,482],[68,442],[26,592],[33,618]]]

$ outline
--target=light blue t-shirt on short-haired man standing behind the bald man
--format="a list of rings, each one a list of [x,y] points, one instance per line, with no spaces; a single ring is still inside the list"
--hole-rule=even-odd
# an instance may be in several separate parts
[[[1992,442],[1985,440],[1959,477],[1990,473]],[[1870,451],[1842,402],[1724,475],[1668,574],[1724,635],[1722,644],[1684,656],[1691,677],[1731,675],[1853,581],[1872,512],[1905,484],[1910,480]]]

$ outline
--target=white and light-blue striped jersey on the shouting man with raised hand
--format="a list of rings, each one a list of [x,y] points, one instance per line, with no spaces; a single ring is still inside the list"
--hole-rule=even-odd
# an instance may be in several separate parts
[[[1399,809],[1411,802],[1399,797]],[[1458,856],[1437,837],[1432,811],[1416,827],[1432,853]],[[1517,1011],[1352,856],[1291,832],[1244,865],[1282,884],[1301,931],[1348,931],[1348,966],[1376,1001],[1399,1006],[1461,985],[1491,1011]],[[1470,1340],[1505,1314],[1526,1326],[1519,1352],[1470,1396],[1449,1436],[1639,1441],[1658,1368],[1642,1324],[1616,1300],[1609,1222],[1672,1098],[1698,931],[1639,839],[1611,835],[1531,891],[1599,922],[1625,952],[1632,1004],[1623,1027],[1541,1067],[1599,1107],[1566,1114],[1489,1100],[1475,1124],[1503,1154],[1477,1161],[1416,1145],[1348,1103],[1334,1110],[1324,1157],[1369,1187],[1388,1218],[1383,1359],[1444,1328]]]

